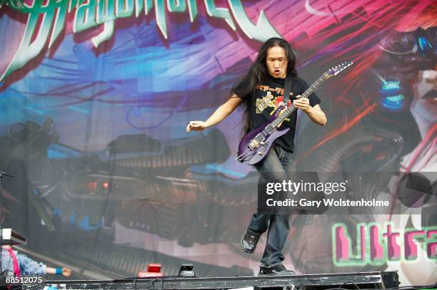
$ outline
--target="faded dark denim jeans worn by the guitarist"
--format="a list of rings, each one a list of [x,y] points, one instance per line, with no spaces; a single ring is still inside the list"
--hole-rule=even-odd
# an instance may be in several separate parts
[[[269,150],[268,155],[255,165],[256,170],[260,173],[260,180],[282,180],[293,178],[296,172],[293,154],[282,147],[275,145]],[[265,192],[258,192],[265,194]],[[258,197],[259,198],[259,197]],[[276,214],[275,212],[260,211],[253,214],[248,229],[253,234],[263,234],[267,232],[266,248],[264,249],[261,266],[273,267],[281,264],[284,256],[282,254],[283,246],[286,243],[288,232],[290,232],[290,215]]]

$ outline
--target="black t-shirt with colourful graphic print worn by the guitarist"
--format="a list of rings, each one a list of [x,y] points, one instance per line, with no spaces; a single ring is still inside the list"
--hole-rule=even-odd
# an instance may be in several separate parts
[[[283,83],[285,78],[273,78],[268,76],[263,78],[263,81],[256,86],[255,92],[243,98],[250,98],[249,101],[249,118],[250,130],[254,130],[262,125],[265,125],[268,118],[273,115],[278,107],[278,104],[283,100]],[[241,84],[238,84],[240,86]],[[237,87],[238,87],[237,86]],[[288,100],[288,106],[296,99],[296,95],[302,95],[305,90],[309,88],[308,83],[301,78],[291,78],[291,93]],[[315,93],[309,95],[308,100],[311,107],[317,105],[321,100]],[[290,128],[288,133],[276,139],[276,143],[285,150],[293,152],[294,150],[294,135],[296,133],[297,110],[294,110],[291,115],[286,118],[281,127],[286,126]]]

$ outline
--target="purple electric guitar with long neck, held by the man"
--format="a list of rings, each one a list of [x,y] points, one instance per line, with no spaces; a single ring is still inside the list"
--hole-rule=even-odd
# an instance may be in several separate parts
[[[321,83],[331,78],[331,76],[337,76],[338,73],[345,70],[348,66],[352,66],[352,61],[345,61],[338,66],[330,68],[301,95],[301,98],[308,98],[308,95],[311,95]],[[267,120],[265,125],[252,130],[244,136],[238,145],[238,156],[236,160],[246,162],[248,165],[254,165],[263,160],[268,150],[270,150],[271,145],[273,145],[274,140],[290,130],[290,128],[280,127],[283,120],[293,113],[294,110],[296,110],[296,107],[293,103],[291,103],[291,106],[288,108],[286,108],[286,105],[281,105],[276,109],[271,118]]]

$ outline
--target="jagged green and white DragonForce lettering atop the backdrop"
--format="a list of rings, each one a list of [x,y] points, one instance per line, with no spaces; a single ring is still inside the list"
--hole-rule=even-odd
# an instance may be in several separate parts
[[[1,2],[0,0],[0,7]],[[233,31],[236,31],[238,24],[248,38],[266,41],[273,36],[280,37],[263,11],[258,16],[258,22],[253,24],[240,0],[228,0],[230,9],[218,8],[214,0],[204,0],[204,4],[209,16],[223,19]],[[31,0],[29,3],[23,0],[6,0],[6,5],[29,14],[29,18],[20,46],[0,81],[38,56],[46,46],[47,40],[48,47],[51,48],[64,29],[67,14],[74,13],[74,33],[103,25],[103,31],[91,38],[96,47],[111,38],[116,19],[149,15],[154,8],[156,24],[164,38],[167,38],[166,7],[171,13],[181,13],[188,9],[191,22],[194,22],[198,15],[196,0]],[[39,21],[40,16],[42,21]],[[34,36],[36,31],[37,35]]]

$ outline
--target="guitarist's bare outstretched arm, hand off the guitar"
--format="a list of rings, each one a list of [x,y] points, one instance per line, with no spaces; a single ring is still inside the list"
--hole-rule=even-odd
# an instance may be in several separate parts
[[[223,105],[218,107],[217,110],[215,110],[214,113],[205,122],[190,121],[186,125],[186,132],[190,132],[191,130],[203,131],[206,128],[220,123],[224,118],[230,115],[242,101],[242,98],[239,98],[238,95],[233,94],[231,98],[229,98],[226,103],[223,103]]]

